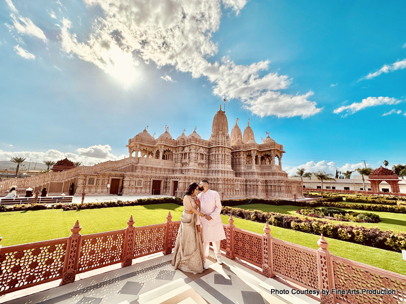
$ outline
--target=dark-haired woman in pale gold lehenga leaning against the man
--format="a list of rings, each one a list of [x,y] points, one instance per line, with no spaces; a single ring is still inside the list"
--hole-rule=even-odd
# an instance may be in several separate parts
[[[183,198],[183,212],[173,251],[172,265],[176,269],[193,274],[203,272],[203,245],[200,238],[200,202],[197,199],[199,185],[192,183]]]

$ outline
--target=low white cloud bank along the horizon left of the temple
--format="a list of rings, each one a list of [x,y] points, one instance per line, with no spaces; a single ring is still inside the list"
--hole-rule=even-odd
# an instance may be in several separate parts
[[[127,155],[116,156],[112,154],[111,147],[109,145],[95,145],[89,148],[79,148],[76,153],[65,153],[58,150],[48,150],[46,152],[7,152],[0,150],[0,160],[9,160],[11,157],[26,157],[31,161],[42,162],[44,160],[58,161],[64,158],[68,158],[73,162],[82,162],[84,165],[94,165],[100,162],[108,160],[119,160],[125,158]]]

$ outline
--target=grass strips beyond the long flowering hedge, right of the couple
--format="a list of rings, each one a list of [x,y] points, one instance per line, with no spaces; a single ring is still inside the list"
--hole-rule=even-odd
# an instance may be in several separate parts
[[[249,205],[239,205],[239,206],[235,206],[235,207],[242,208],[242,209],[258,209],[258,210],[262,210],[265,212],[279,212],[279,213],[294,214],[294,215],[298,215],[296,213],[297,209],[303,208],[303,207],[292,206],[292,205],[273,206],[273,205],[268,205],[268,204],[263,204],[263,203],[253,203],[253,204],[249,204]],[[354,212],[371,212],[371,213],[378,214],[379,217],[381,218],[381,221],[379,223],[354,223],[354,222],[344,222],[344,223],[363,225],[363,226],[369,226],[369,227],[377,226],[381,230],[392,229],[392,230],[398,230],[398,231],[406,231],[406,214],[382,212],[382,211],[356,210],[356,209],[347,209],[347,208],[342,208],[342,209],[348,210],[348,211],[354,211]],[[325,218],[323,218],[323,219],[325,219]],[[328,220],[328,219],[325,219],[325,220]],[[342,221],[335,221],[335,220],[330,220],[330,221],[343,223]]]

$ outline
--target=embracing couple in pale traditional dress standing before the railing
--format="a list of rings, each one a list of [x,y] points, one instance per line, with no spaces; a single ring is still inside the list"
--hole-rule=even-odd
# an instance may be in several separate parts
[[[226,238],[226,234],[220,212],[220,195],[209,189],[206,180],[189,185],[183,198],[183,212],[173,252],[172,265],[175,269],[194,274],[208,269],[206,260],[210,242],[217,262],[222,264],[220,241]]]

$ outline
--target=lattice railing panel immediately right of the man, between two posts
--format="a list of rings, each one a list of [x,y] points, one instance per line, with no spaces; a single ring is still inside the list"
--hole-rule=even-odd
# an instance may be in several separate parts
[[[234,255],[262,267],[262,235],[250,231],[233,231]]]

